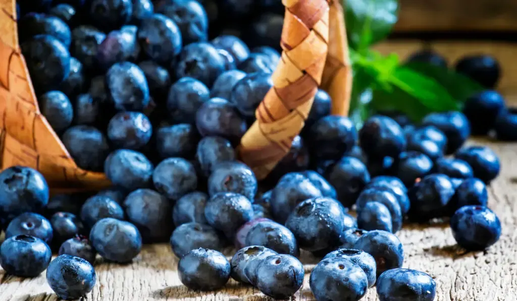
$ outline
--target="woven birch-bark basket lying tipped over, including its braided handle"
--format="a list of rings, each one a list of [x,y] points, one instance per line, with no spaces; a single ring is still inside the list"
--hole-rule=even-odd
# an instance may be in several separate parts
[[[279,0],[280,1],[280,0]],[[352,87],[343,8],[332,0],[282,0],[282,59],[274,86],[237,151],[264,179],[303,128],[318,86],[332,97],[332,114],[346,116]],[[41,115],[18,44],[15,0],[0,0],[0,170],[39,170],[53,192],[110,186],[103,173],[79,168]]]

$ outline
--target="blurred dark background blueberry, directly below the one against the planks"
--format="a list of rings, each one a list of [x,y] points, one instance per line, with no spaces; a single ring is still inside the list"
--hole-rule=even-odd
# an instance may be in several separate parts
[[[484,135],[494,128],[497,116],[505,110],[505,99],[494,90],[477,93],[465,101],[463,114],[473,134]]]

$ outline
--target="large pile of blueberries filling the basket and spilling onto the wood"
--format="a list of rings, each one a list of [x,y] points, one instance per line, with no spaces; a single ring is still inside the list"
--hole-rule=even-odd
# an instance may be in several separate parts
[[[256,5],[279,4],[18,1],[42,114],[78,166],[105,172],[113,187],[50,198],[38,171],[1,172],[6,273],[35,277],[46,268],[60,298],[78,298],[95,285],[97,255],[130,263],[142,244],[170,241],[188,288],[217,290],[233,278],[285,299],[303,281],[301,249],[322,258],[310,276],[319,301],[358,300],[375,284],[382,301],[427,301],[432,277],[402,268],[395,234],[405,221],[449,219],[467,250],[494,244],[501,226],[486,207],[486,185],[499,161],[489,148],[463,147],[470,125],[460,112],[415,125],[376,115],[357,131],[329,115],[320,90],[305,129],[266,180],[237,161],[234,148],[280,57],[268,38],[279,38],[254,24],[260,43],[250,52],[210,16],[222,8],[242,24]],[[225,34],[208,41],[214,32]],[[232,244],[229,261],[221,251]],[[59,256],[51,261],[52,251]]]

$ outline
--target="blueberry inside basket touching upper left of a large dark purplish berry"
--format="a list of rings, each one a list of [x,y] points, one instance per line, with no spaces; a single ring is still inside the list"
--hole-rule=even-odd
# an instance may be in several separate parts
[[[202,82],[192,77],[182,77],[171,86],[167,110],[177,123],[194,123],[201,105],[210,99],[210,91]]]

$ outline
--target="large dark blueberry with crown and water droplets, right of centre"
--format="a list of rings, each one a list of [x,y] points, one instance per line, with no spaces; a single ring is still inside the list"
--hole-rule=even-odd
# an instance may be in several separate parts
[[[285,226],[293,231],[300,247],[309,251],[329,248],[343,230],[343,209],[331,198],[313,198],[299,203]]]

